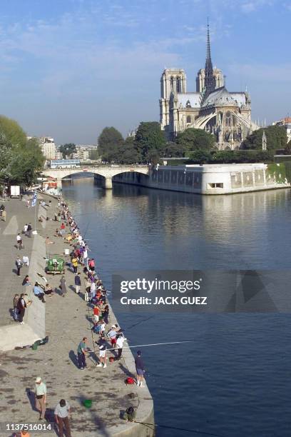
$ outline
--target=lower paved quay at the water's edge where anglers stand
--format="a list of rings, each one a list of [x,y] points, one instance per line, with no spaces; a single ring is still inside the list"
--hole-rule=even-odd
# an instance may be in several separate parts
[[[46,201],[48,201],[47,197]],[[56,204],[54,199],[53,204]],[[47,210],[44,214],[53,217],[55,209],[52,207]],[[55,242],[46,246],[47,252],[61,255],[64,248],[71,249],[71,246],[64,243],[62,238],[53,236],[53,231],[59,224],[55,221],[38,223],[38,233],[44,237],[49,236]],[[98,260],[96,265],[98,267]],[[81,271],[81,266],[78,271]],[[71,404],[73,437],[109,437],[113,436],[115,431],[125,431],[134,425],[121,420],[121,411],[130,405],[138,407],[142,398],[145,403],[151,403],[148,388],[126,386],[124,383],[127,376],[133,375],[124,359],[113,363],[109,363],[108,360],[106,369],[96,368],[96,357],[92,354],[87,356],[88,368],[83,371],[78,369],[76,351],[83,336],[88,337],[88,347],[93,349],[91,331],[87,329],[91,326],[91,322],[88,320],[86,302],[83,301],[83,273],[81,296],[74,291],[72,286],[74,275],[67,267],[65,276],[67,296],[62,298],[59,293],[56,293],[51,298],[46,297],[48,343],[39,346],[36,351],[24,348],[0,356],[1,393],[5,394],[0,397],[0,436],[11,435],[4,432],[4,423],[44,423],[38,420],[39,413],[34,411],[34,396],[31,394],[31,391],[34,391],[36,376],[44,378],[48,388],[46,404],[48,420],[53,420],[53,409],[61,398],[66,398]],[[60,276],[46,275],[46,278],[48,283],[58,291]],[[108,326],[116,323],[112,314],[109,322]],[[97,339],[97,336],[94,335],[94,339]],[[98,355],[98,348],[96,353]],[[112,355],[108,352],[108,356]],[[138,396],[138,393],[141,396]],[[86,409],[82,405],[85,399],[93,401],[92,408]],[[137,416],[136,420],[143,421],[142,419],[143,416],[141,418]],[[148,429],[145,426],[143,428]],[[56,435],[56,432],[50,434]],[[31,436],[43,435],[45,433],[31,432]],[[137,430],[131,434],[131,436],[141,435],[146,434],[140,434]]]

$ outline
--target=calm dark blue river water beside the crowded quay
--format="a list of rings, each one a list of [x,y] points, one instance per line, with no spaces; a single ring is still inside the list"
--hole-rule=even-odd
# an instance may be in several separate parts
[[[111,287],[122,270],[290,267],[291,191],[195,196],[137,186],[63,185]],[[142,348],[157,436],[290,437],[289,314],[116,313]],[[118,412],[116,412],[118,413]]]

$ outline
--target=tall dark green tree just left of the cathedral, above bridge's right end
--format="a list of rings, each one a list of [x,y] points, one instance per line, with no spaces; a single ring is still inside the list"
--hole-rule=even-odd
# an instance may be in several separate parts
[[[142,121],[136,131],[136,150],[143,162],[156,161],[165,149],[165,135],[157,121]]]

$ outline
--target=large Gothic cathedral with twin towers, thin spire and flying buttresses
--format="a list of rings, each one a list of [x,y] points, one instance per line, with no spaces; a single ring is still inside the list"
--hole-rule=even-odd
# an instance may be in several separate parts
[[[198,71],[196,92],[187,92],[183,69],[165,69],[160,79],[160,127],[168,140],[188,128],[215,135],[219,150],[235,150],[245,137],[259,129],[250,118],[250,96],[230,92],[220,69],[213,68],[209,25],[205,68]]]

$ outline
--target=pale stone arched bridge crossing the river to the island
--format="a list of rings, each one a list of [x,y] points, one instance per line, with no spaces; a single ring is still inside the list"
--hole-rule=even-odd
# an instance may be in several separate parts
[[[44,169],[43,175],[50,176],[56,179],[58,188],[61,188],[61,180],[68,178],[72,174],[96,174],[104,178],[104,188],[112,189],[112,178],[117,174],[127,173],[128,171],[135,171],[136,173],[149,174],[148,166],[81,166],[78,169]]]

